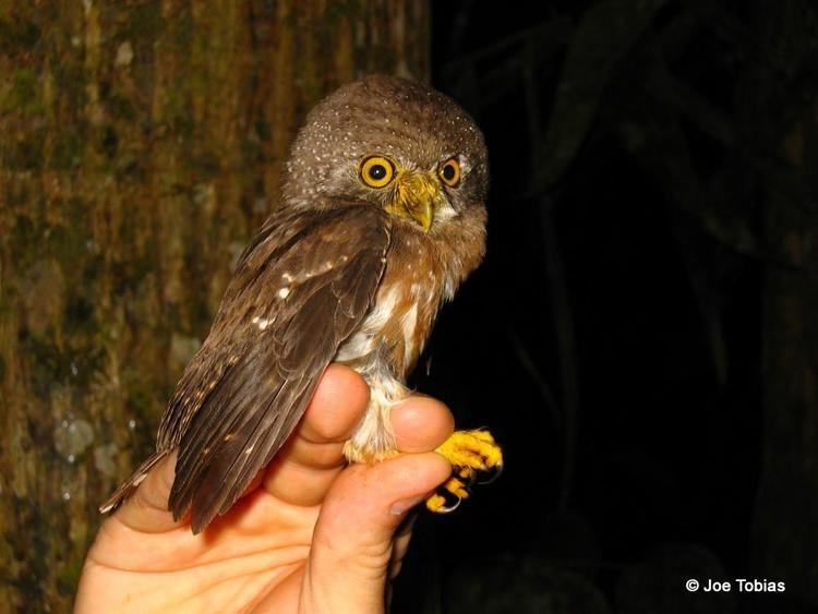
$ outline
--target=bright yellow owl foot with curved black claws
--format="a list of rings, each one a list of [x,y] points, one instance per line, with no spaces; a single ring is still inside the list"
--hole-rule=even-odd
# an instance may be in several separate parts
[[[454,475],[426,499],[426,508],[436,514],[457,509],[474,483],[493,482],[503,469],[503,450],[489,431],[456,431],[436,452],[454,468]],[[490,477],[478,481],[480,473]]]

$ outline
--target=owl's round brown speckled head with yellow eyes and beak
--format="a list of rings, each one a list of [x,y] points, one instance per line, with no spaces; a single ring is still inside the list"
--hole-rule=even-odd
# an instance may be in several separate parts
[[[286,206],[356,200],[435,233],[457,221],[482,224],[489,165],[480,129],[454,100],[420,83],[373,75],[309,113],[284,179]]]

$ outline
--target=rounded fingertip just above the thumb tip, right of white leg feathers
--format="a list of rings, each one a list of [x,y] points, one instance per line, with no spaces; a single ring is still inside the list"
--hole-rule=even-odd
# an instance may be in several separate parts
[[[400,452],[432,452],[455,430],[452,411],[431,397],[412,395],[393,408],[392,430]]]

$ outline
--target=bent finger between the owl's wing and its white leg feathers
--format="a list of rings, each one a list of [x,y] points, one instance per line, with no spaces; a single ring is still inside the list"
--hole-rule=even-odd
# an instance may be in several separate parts
[[[264,478],[264,489],[302,506],[321,503],[344,468],[344,443],[369,402],[369,387],[348,366],[332,364],[304,419]]]

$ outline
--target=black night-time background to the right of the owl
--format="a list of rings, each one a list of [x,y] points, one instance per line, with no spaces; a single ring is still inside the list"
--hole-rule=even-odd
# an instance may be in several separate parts
[[[784,472],[772,522],[761,491],[804,434],[774,428],[786,374],[765,365],[787,351],[775,288],[814,286],[777,219],[816,207],[816,25],[798,2],[434,3],[433,84],[493,181],[488,257],[414,383],[490,426],[506,470],[421,517],[399,611],[818,612],[783,564],[814,495]]]

